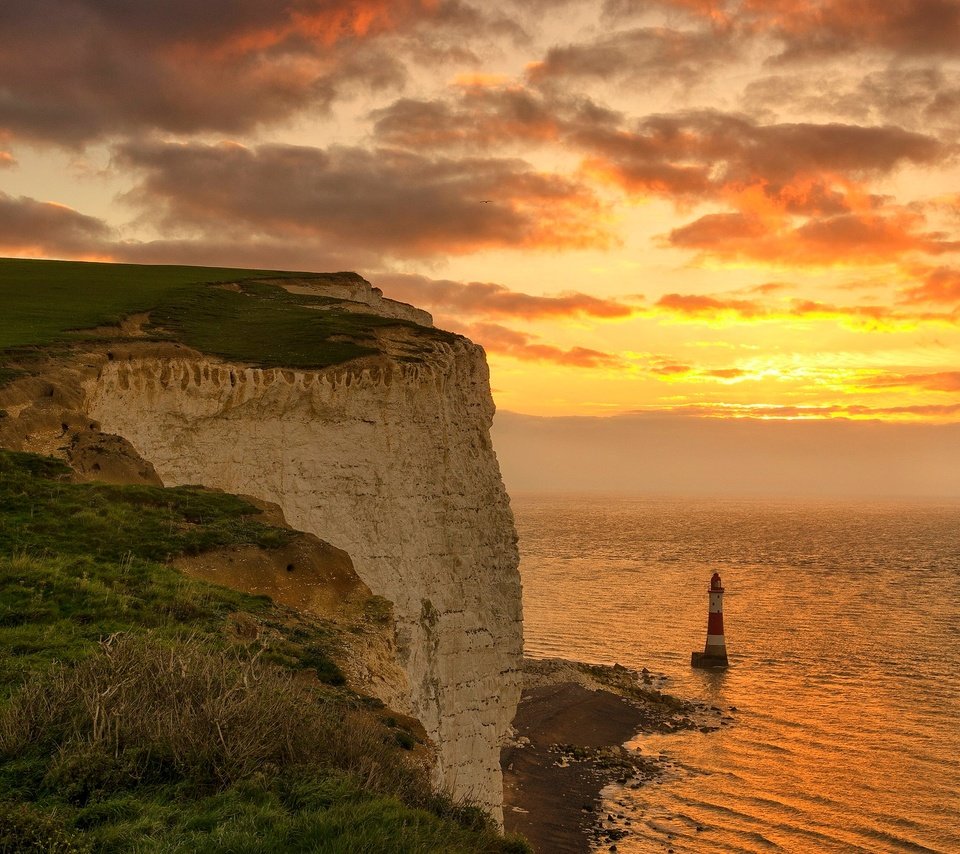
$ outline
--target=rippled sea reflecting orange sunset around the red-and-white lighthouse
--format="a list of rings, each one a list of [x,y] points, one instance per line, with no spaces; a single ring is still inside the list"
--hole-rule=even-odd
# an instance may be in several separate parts
[[[960,503],[513,508],[528,655],[646,666],[738,709],[633,742],[669,765],[608,790],[631,822],[619,852],[960,852]],[[689,666],[714,570],[721,674]]]

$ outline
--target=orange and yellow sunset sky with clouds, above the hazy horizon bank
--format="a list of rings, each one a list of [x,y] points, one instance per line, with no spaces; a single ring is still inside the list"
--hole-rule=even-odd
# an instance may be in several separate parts
[[[31,0],[0,33],[0,254],[355,270],[528,416],[960,422],[960,0]]]

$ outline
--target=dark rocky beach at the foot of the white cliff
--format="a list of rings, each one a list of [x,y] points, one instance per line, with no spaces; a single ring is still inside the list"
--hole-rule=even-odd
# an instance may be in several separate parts
[[[523,675],[514,736],[501,750],[504,826],[542,854],[615,851],[629,835],[601,812],[601,791],[610,783],[640,788],[663,769],[659,757],[625,742],[644,732],[719,728],[706,704],[664,694],[656,686],[665,677],[646,670],[524,659]]]

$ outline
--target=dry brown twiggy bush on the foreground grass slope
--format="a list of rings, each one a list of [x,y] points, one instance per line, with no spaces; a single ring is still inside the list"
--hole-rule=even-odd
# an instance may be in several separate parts
[[[0,752],[57,753],[48,782],[114,788],[136,779],[226,787],[290,765],[346,771],[404,799],[429,790],[383,727],[289,671],[196,639],[118,635],[99,654],[28,683],[0,712]],[[132,778],[132,779],[131,779]]]

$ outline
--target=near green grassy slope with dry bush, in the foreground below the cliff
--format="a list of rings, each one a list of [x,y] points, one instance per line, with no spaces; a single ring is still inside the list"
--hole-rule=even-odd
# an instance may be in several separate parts
[[[0,451],[0,852],[529,851],[337,684],[339,629],[165,563],[290,532],[67,477]]]

